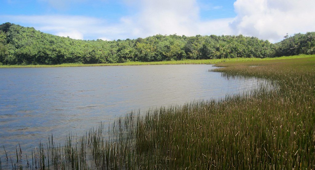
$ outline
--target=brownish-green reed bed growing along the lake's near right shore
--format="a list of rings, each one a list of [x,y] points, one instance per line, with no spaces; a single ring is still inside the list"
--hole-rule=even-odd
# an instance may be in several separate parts
[[[130,112],[63,146],[51,136],[25,164],[18,147],[14,161],[1,160],[17,162],[12,169],[315,169],[315,56],[217,66],[209,71],[267,81],[220,100]]]

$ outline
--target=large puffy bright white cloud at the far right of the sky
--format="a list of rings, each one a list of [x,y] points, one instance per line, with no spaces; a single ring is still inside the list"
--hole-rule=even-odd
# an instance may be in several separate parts
[[[286,33],[314,31],[314,6],[314,0],[237,0],[237,17],[230,27],[233,34],[277,42]]]

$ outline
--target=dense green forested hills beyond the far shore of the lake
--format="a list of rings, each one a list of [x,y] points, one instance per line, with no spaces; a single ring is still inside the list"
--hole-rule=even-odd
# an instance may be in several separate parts
[[[0,65],[123,63],[315,54],[315,32],[279,43],[256,37],[155,35],[147,38],[83,41],[54,36],[11,23],[0,25]]]

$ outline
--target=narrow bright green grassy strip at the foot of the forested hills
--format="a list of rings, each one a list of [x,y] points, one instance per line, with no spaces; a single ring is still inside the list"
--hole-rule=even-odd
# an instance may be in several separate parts
[[[126,62],[126,63],[102,63],[102,64],[78,64],[68,63],[59,65],[0,65],[0,68],[36,68],[36,67],[90,67],[90,66],[129,66],[129,65],[165,65],[165,64],[217,64],[221,62],[243,62],[243,61],[261,61],[277,60],[286,58],[305,58],[314,55],[298,55],[278,58],[222,58],[207,60],[178,60],[178,61],[159,61],[159,62]]]

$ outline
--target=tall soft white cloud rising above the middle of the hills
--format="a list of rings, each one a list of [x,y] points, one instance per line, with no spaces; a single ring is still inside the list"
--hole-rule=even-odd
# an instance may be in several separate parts
[[[140,4],[138,25],[146,35],[188,34],[198,20],[195,0],[142,0]]]

